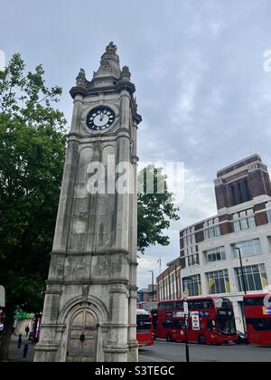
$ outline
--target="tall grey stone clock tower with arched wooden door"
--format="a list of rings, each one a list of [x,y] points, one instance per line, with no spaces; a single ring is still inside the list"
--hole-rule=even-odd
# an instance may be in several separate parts
[[[81,70],[70,90],[74,109],[36,362],[138,358],[136,132],[142,119],[130,77],[110,43],[93,79]]]

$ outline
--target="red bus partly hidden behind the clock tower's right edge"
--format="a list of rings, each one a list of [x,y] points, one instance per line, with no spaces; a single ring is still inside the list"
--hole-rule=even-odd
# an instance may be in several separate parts
[[[154,345],[152,316],[142,309],[136,310],[136,339],[139,347]]]

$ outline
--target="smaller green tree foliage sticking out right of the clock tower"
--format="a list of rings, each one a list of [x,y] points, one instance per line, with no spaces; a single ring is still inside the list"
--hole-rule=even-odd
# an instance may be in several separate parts
[[[145,167],[138,174],[138,252],[144,254],[147,247],[155,244],[169,245],[169,236],[164,231],[169,229],[171,221],[179,219],[163,169]]]

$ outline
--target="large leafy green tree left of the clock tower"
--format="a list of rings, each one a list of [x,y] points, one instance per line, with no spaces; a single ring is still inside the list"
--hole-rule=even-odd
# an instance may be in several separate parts
[[[6,290],[0,361],[7,359],[14,311],[40,311],[65,156],[66,123],[53,107],[42,65],[25,72],[20,54],[0,71],[0,284]]]

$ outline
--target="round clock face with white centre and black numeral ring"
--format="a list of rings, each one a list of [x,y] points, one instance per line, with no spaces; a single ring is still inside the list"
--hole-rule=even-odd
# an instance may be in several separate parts
[[[98,107],[89,112],[87,125],[92,130],[105,130],[111,127],[115,119],[116,115],[112,109],[105,106]]]

